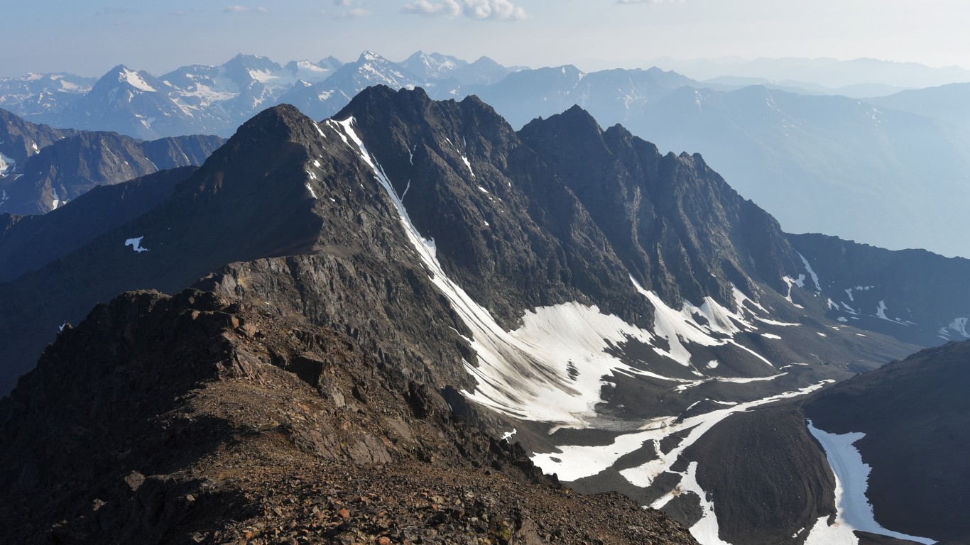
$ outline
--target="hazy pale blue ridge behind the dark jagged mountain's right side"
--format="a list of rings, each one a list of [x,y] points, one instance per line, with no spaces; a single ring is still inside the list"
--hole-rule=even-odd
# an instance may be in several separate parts
[[[583,81],[592,86],[592,78]],[[582,99],[578,104],[598,119],[623,123],[662,149],[700,152],[788,231],[967,255],[958,235],[965,215],[956,203],[970,146],[949,124],[845,97],[762,86],[721,92],[681,85],[672,76],[644,85],[643,98],[624,106],[615,90],[601,99],[569,91],[577,79],[509,87],[502,96],[526,95],[496,101],[497,110],[514,125],[527,122],[531,111],[552,108],[542,105]],[[598,88],[606,93],[616,86]]]

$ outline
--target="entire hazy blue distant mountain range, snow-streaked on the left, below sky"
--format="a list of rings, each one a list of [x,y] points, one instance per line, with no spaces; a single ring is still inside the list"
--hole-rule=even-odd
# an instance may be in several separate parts
[[[239,55],[159,78],[119,66],[89,87],[65,75],[4,80],[0,106],[52,126],[155,139],[228,136],[255,112],[282,103],[322,119],[373,84],[422,87],[438,100],[476,95],[515,127],[579,105],[662,149],[701,153],[791,232],[970,255],[960,235],[970,229],[962,211],[970,200],[970,114],[961,113],[970,88],[863,101],[805,90],[795,80],[748,85],[759,81],[704,82],[657,68],[530,70],[423,52],[400,63],[369,51],[346,64],[286,65]],[[863,85],[853,94],[875,91]]]

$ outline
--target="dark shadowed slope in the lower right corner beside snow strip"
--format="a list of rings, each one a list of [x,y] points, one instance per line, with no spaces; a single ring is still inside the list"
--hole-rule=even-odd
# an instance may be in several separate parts
[[[970,342],[950,342],[805,402],[830,458],[848,460],[857,450],[871,466],[866,497],[877,524],[944,543],[970,537],[966,518],[955,515],[968,507],[970,472],[962,456],[970,446],[962,425],[970,413],[963,389],[968,361]],[[830,452],[834,444],[845,451]],[[850,490],[853,484],[843,486]]]

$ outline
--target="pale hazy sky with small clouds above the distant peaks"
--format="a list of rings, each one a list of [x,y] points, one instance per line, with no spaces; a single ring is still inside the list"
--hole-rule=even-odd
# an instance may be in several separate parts
[[[372,49],[533,67],[646,67],[647,59],[873,57],[970,67],[966,0],[14,0],[0,76],[114,65],[163,74],[239,52],[277,62]]]

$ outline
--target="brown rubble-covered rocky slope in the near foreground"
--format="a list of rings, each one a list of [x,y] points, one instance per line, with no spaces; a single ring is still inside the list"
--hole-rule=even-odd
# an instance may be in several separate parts
[[[17,543],[695,543],[476,421],[353,337],[127,293],[0,401],[0,521]]]

